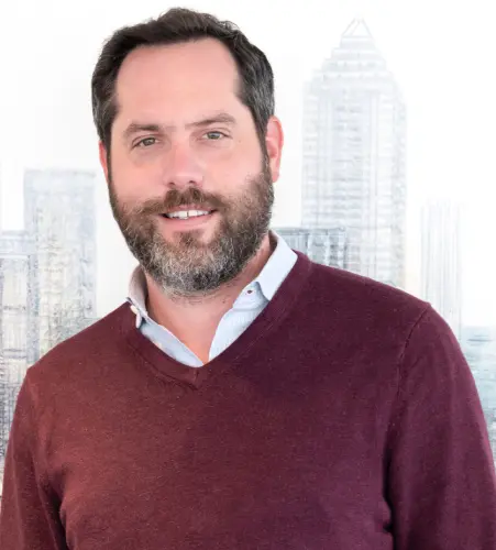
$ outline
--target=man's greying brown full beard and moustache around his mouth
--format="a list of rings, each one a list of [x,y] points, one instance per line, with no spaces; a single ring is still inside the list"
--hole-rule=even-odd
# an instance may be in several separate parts
[[[110,161],[110,158],[109,158]],[[113,217],[128,248],[142,268],[170,297],[205,296],[234,279],[260,250],[268,232],[274,186],[268,160],[243,190],[232,197],[203,193],[196,186],[169,190],[163,199],[141,205],[121,201],[115,193],[109,163],[109,195]],[[158,216],[170,208],[197,205],[217,210],[218,228],[203,242],[202,230],[180,231],[174,242],[159,230]]]

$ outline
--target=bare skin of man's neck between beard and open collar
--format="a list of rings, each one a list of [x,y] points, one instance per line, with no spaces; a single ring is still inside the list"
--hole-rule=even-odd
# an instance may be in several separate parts
[[[274,248],[273,237],[265,235],[258,252],[234,279],[208,295],[198,297],[180,298],[167,295],[145,274],[148,315],[195,351],[201,360],[206,360],[220,320],[232,308],[243,288],[261,273]]]

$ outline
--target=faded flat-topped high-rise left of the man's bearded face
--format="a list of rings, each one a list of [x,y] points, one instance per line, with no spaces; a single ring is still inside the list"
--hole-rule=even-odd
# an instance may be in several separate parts
[[[24,220],[35,243],[30,307],[38,327],[33,344],[43,355],[96,318],[95,175],[26,172]]]

